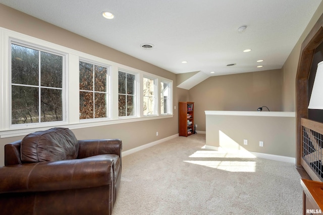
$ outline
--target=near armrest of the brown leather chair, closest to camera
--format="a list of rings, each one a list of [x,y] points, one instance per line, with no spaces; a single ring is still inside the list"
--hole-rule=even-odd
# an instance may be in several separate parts
[[[0,167],[0,193],[70,190],[113,183],[113,159],[99,155],[85,159],[25,163]]]

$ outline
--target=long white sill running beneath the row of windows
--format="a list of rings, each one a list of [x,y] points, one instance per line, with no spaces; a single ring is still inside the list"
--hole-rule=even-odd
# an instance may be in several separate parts
[[[81,122],[81,123],[77,123],[77,124],[62,123],[62,124],[57,124],[55,126],[11,129],[11,130],[0,131],[0,138],[27,135],[27,134],[35,132],[35,131],[47,130],[52,127],[66,127],[66,128],[70,128],[70,129],[78,129],[78,128],[87,128],[87,127],[95,127],[95,126],[102,126],[102,125],[113,125],[113,124],[128,123],[128,122],[171,118],[171,117],[173,117],[172,114],[162,115],[162,116],[150,116],[150,117],[140,117],[140,118],[137,117],[137,118],[107,120],[107,121],[100,121],[100,122]]]

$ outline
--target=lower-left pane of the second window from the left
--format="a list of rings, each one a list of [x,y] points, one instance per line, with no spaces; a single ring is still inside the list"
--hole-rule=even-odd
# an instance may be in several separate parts
[[[93,93],[80,92],[80,119],[93,118]]]

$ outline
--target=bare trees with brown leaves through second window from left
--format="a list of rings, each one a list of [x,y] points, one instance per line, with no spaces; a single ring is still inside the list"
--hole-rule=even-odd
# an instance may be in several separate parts
[[[80,61],[80,119],[107,117],[107,67]]]

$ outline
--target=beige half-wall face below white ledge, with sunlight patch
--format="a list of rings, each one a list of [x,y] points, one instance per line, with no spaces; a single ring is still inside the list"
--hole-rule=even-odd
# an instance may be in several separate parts
[[[206,125],[207,146],[295,158],[295,117],[207,115]]]

